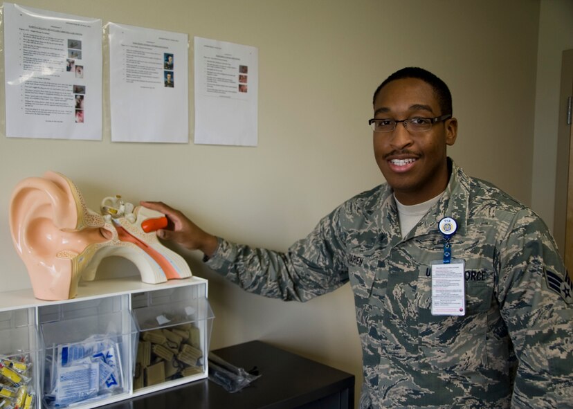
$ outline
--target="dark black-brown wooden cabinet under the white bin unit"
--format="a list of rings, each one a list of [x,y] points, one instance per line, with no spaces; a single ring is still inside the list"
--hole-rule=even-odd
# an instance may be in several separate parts
[[[353,409],[354,375],[311,361],[262,341],[213,351],[260,378],[236,393],[202,379],[105,409]]]

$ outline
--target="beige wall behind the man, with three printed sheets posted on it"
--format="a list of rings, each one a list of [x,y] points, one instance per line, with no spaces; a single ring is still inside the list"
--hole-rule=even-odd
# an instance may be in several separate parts
[[[434,71],[451,87],[460,122],[453,158],[470,174],[531,202],[538,1],[21,4],[189,33],[191,42],[198,35],[257,47],[259,145],[111,143],[107,132],[100,142],[2,136],[3,289],[30,285],[8,230],[10,192],[19,180],[46,170],[69,176],[94,209],[109,194],[134,202],[163,200],[212,233],[286,250],[340,202],[383,181],[366,122],[372,115],[372,92],[387,75],[408,65]],[[192,102],[191,97],[191,119]],[[224,116],[221,112],[221,120]],[[217,316],[212,347],[258,338],[360,379],[349,286],[305,305],[284,303],[243,293],[204,268],[199,254],[186,257],[196,275],[210,280]],[[104,270],[134,273],[117,261],[106,263]]]

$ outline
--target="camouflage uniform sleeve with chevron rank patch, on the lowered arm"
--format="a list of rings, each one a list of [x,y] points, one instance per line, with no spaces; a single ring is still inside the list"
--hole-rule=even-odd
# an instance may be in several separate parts
[[[514,217],[499,250],[498,301],[518,358],[512,408],[573,408],[572,283],[543,221]]]

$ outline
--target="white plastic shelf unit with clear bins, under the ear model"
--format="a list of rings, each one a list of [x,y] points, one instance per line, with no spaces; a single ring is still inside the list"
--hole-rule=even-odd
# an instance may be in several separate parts
[[[84,282],[63,301],[1,292],[0,356],[28,363],[36,409],[95,408],[204,379],[215,318],[207,296],[196,277]]]

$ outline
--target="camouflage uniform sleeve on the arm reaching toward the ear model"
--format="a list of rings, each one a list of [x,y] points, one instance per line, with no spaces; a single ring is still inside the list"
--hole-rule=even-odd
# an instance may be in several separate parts
[[[307,301],[348,281],[340,209],[324,217],[286,253],[219,239],[206,264],[242,289],[270,298]]]

